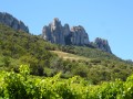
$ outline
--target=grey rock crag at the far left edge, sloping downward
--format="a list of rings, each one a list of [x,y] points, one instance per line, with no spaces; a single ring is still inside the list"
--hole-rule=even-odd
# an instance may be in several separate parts
[[[22,21],[17,20],[9,13],[0,12],[0,23],[11,26],[14,30],[21,30],[29,33],[28,26]]]

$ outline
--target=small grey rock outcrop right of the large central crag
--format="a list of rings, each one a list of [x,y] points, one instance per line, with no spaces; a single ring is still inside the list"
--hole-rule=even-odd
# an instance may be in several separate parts
[[[109,45],[109,42],[106,40],[103,40],[103,38],[100,38],[100,37],[96,37],[93,42],[93,45],[104,52],[108,52],[108,53],[111,53],[112,54],[112,51],[111,51],[111,47]]]

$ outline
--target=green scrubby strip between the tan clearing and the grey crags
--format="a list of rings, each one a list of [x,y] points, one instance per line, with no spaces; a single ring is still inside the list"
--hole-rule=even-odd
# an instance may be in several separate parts
[[[79,56],[85,56],[89,58],[101,58],[101,59],[115,59],[115,61],[121,61],[113,54],[109,54],[106,52],[102,52],[101,50],[98,48],[91,48],[86,46],[60,46],[60,51],[66,52],[66,53],[72,53]]]

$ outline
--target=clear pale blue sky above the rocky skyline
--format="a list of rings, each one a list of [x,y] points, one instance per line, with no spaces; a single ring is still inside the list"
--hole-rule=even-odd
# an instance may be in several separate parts
[[[133,0],[0,0],[0,12],[22,20],[33,34],[53,18],[82,25],[90,41],[106,38],[116,56],[133,59]]]

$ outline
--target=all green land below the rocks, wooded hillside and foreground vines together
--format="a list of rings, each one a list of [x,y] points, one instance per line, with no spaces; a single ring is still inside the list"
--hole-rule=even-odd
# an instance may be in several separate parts
[[[0,99],[133,99],[132,74],[113,54],[0,24]]]

